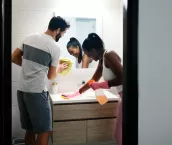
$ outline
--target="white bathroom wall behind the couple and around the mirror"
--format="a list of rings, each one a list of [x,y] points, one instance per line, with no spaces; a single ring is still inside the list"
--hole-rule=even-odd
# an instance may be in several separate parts
[[[122,6],[120,0],[13,0],[12,1],[12,51],[18,47],[29,33],[44,32],[53,12],[75,16],[102,15],[103,40],[107,49],[114,49],[122,56]],[[114,24],[116,24],[114,26]],[[94,71],[88,69],[82,73],[73,71],[67,77],[58,77],[61,90],[76,89],[83,78],[89,78]],[[81,76],[82,74],[82,76]],[[23,136],[20,128],[19,111],[17,106],[16,90],[19,85],[20,67],[12,64],[12,135]],[[76,77],[77,76],[77,77]],[[62,87],[64,80],[75,82],[73,88]],[[62,80],[63,79],[63,80]],[[61,80],[61,82],[60,82]],[[70,85],[71,86],[71,85]],[[69,89],[70,88],[70,89]]]

